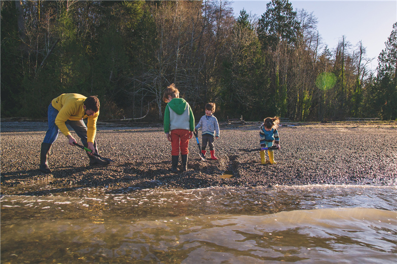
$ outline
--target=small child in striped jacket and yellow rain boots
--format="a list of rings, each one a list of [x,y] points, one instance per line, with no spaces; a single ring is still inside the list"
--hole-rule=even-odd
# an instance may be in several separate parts
[[[280,123],[280,119],[277,116],[274,117],[266,117],[264,123],[261,126],[261,130],[259,131],[259,136],[261,139],[261,164],[271,163],[277,164],[274,161],[273,151],[267,150],[267,154],[269,155],[269,160],[265,159],[265,148],[269,148],[273,146],[273,143],[276,145],[278,149],[280,149],[280,140],[278,138],[277,127]]]

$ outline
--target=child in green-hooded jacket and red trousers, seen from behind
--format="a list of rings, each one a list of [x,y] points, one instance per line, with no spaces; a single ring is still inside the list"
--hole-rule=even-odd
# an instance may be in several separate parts
[[[192,108],[183,98],[179,98],[179,90],[175,84],[167,87],[163,95],[167,103],[164,111],[164,133],[171,142],[171,171],[177,172],[179,151],[182,157],[182,170],[188,170],[189,140],[193,137],[195,117]]]

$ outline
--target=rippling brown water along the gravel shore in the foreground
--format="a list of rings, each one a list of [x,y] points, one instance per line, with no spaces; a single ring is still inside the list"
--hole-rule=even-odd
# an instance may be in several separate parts
[[[397,263],[397,187],[2,196],[1,263]]]

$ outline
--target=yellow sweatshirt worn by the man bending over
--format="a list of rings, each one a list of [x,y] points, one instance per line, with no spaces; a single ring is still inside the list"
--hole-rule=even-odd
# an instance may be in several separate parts
[[[98,119],[99,111],[92,116],[88,116],[84,112],[83,104],[85,96],[79,94],[62,94],[55,98],[51,104],[59,111],[55,124],[61,132],[67,136],[70,135],[66,127],[66,120],[78,121],[88,118],[87,122],[87,141],[94,143],[96,135],[96,121]]]

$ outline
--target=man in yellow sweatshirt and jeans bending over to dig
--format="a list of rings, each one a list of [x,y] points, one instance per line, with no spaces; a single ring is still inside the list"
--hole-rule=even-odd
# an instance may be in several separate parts
[[[66,124],[70,125],[81,139],[83,145],[94,153],[98,153],[95,141],[96,121],[99,115],[99,100],[95,96],[85,97],[79,94],[62,94],[55,98],[48,106],[48,130],[41,144],[40,170],[49,173],[48,157],[51,155],[51,146],[61,131],[69,144],[77,143],[70,134]],[[83,119],[87,118],[87,126]],[[102,160],[87,152],[90,165],[107,165],[109,161]]]

